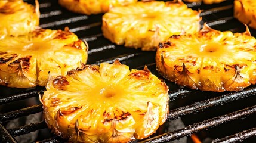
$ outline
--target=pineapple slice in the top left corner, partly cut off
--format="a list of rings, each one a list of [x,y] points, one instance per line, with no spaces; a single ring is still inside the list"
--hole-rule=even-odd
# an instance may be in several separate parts
[[[6,35],[25,35],[39,24],[39,4],[27,4],[22,0],[0,1],[0,39]]]

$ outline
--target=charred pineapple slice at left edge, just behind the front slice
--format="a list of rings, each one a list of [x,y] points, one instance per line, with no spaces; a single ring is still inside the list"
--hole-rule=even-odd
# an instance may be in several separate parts
[[[45,86],[48,73],[64,75],[87,61],[87,47],[65,31],[36,29],[0,41],[0,85],[16,88]]]

